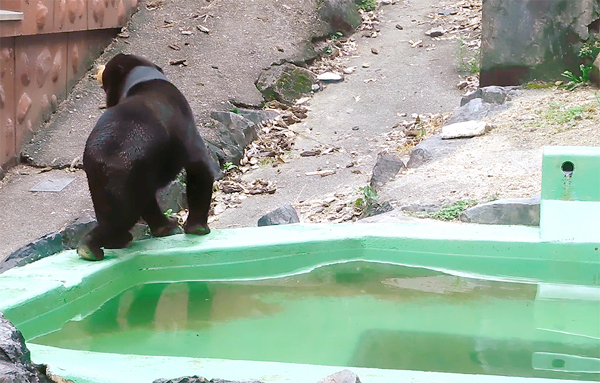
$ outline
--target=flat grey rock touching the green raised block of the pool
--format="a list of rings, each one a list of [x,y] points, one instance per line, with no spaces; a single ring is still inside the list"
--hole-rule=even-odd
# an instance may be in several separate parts
[[[490,225],[540,224],[540,197],[509,198],[474,206],[461,213],[463,222]]]

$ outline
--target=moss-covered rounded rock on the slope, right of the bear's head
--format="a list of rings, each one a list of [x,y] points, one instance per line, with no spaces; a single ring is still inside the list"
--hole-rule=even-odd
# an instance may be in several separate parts
[[[267,101],[277,100],[291,105],[294,100],[312,92],[317,76],[293,64],[273,65],[262,72],[256,87]]]

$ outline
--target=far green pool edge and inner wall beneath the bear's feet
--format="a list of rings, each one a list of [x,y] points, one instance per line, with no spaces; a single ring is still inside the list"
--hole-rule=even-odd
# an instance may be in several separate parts
[[[600,286],[600,241],[548,242],[528,227],[452,223],[286,225],[66,251],[0,275],[0,311],[32,339],[145,282],[261,279],[365,260],[489,279]],[[35,281],[35,283],[32,283]]]

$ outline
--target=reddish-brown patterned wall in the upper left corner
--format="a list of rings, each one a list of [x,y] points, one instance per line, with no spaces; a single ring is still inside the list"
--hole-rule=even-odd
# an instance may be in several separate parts
[[[137,6],[138,0],[0,0],[0,166],[18,160],[21,144]]]

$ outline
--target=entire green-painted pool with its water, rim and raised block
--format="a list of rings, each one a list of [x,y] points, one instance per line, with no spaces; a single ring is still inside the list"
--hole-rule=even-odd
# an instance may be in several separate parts
[[[76,383],[599,381],[598,201],[600,150],[552,149],[539,228],[286,225],[67,251],[0,275],[0,311]]]

